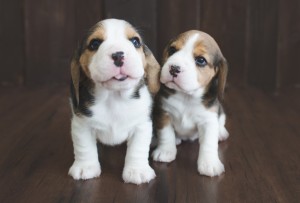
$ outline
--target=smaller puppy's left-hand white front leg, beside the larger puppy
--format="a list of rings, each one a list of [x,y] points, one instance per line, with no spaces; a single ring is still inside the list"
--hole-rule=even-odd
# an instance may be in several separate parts
[[[158,131],[158,147],[153,151],[155,161],[171,162],[176,158],[176,137],[171,123]]]

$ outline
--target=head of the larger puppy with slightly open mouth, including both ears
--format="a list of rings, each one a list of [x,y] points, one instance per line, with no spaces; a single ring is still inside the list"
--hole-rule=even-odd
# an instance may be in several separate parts
[[[151,93],[159,89],[160,66],[141,36],[128,22],[107,19],[93,26],[71,62],[78,99],[82,74],[111,90],[135,87],[143,78]]]

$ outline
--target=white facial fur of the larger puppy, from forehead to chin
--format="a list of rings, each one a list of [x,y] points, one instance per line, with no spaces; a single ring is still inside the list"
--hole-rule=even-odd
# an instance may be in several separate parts
[[[108,89],[128,89],[136,85],[144,75],[141,54],[125,35],[125,28],[128,26],[125,21],[108,19],[102,21],[102,26],[106,38],[90,62],[91,77]],[[111,55],[118,51],[124,52],[124,65],[120,68],[116,68],[111,59]],[[113,79],[118,75],[127,75],[129,78],[120,83]]]

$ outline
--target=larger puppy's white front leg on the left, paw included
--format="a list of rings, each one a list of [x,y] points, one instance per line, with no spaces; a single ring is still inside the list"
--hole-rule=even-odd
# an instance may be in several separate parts
[[[69,175],[75,180],[98,177],[101,169],[95,135],[87,125],[81,124],[76,119],[72,120],[71,129],[75,161],[69,170]]]

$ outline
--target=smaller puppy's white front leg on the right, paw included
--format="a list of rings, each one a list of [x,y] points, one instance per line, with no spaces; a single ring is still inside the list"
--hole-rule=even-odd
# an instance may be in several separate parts
[[[210,115],[204,126],[204,134],[199,136],[199,141],[200,149],[197,162],[199,173],[211,177],[221,175],[225,170],[218,155],[219,122],[217,114],[212,113]]]

